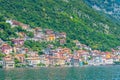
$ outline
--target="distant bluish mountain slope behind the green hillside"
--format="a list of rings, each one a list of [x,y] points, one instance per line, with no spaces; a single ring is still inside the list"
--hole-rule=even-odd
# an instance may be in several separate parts
[[[86,0],[91,7],[120,20],[120,0]]]

